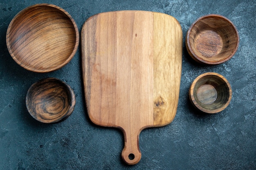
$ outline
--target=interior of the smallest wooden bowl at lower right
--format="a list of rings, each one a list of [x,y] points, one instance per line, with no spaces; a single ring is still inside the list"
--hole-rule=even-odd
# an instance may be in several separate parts
[[[193,95],[197,104],[206,110],[224,107],[230,96],[227,83],[216,75],[206,75],[198,79]]]

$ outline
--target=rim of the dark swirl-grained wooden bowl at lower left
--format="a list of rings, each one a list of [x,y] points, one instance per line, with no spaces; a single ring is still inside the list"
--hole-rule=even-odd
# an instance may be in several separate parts
[[[70,103],[71,105],[69,106],[68,108],[68,111],[65,115],[61,115],[60,117],[57,117],[55,119],[51,119],[51,120],[47,120],[47,119],[38,119],[38,117],[36,117],[32,111],[29,109],[29,95],[30,95],[30,92],[31,92],[31,89],[34,88],[35,86],[37,86],[38,83],[40,82],[43,82],[43,84],[45,84],[45,82],[48,82],[48,81],[55,81],[57,82],[58,84],[61,84],[62,86],[64,86],[65,89],[67,89],[68,93],[69,93],[69,98],[70,98]],[[59,121],[62,121],[64,119],[67,119],[67,117],[69,117],[72,112],[74,111],[74,107],[76,105],[76,97],[75,97],[75,94],[74,94],[74,91],[73,89],[70,87],[70,85],[68,85],[66,82],[64,82],[63,80],[61,79],[57,79],[57,78],[54,78],[54,77],[47,77],[47,78],[43,78],[43,79],[40,79],[38,80],[37,82],[33,83],[28,91],[27,91],[27,94],[26,94],[26,108],[27,108],[27,111],[29,112],[29,114],[34,118],[36,119],[37,121],[40,121],[42,123],[56,123],[56,122],[59,122]]]

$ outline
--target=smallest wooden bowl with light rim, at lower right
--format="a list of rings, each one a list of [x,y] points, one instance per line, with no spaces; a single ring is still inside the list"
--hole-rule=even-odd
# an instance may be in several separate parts
[[[225,77],[218,73],[199,75],[191,84],[189,99],[204,113],[218,113],[230,103],[232,90]]]

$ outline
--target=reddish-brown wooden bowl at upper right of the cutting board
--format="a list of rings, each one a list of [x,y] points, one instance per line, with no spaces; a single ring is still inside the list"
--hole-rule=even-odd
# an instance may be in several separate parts
[[[221,15],[198,18],[186,35],[186,49],[200,64],[220,64],[236,53],[239,35],[236,26]]]

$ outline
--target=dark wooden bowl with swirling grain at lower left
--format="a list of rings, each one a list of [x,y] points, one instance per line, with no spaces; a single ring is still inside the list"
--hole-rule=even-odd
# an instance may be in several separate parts
[[[26,96],[29,114],[43,123],[54,123],[69,117],[75,103],[72,88],[56,78],[41,79],[32,84]]]

